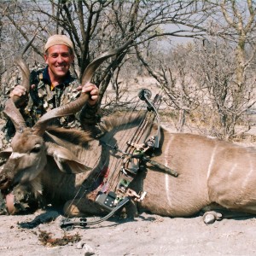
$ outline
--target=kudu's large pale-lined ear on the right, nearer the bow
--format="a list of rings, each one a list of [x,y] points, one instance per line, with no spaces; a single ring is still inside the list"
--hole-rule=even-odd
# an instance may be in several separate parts
[[[61,172],[77,174],[90,171],[91,168],[85,166],[70,150],[54,143],[46,143],[47,155],[54,158],[55,163]]]

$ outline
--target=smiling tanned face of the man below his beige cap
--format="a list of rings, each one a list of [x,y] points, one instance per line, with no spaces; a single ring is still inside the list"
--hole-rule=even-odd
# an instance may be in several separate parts
[[[73,59],[73,54],[67,45],[49,47],[44,55],[44,60],[49,66],[49,77],[54,79],[65,77],[73,63]]]

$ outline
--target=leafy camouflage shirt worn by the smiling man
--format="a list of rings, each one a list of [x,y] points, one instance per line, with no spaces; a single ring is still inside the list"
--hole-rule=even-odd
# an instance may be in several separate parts
[[[67,78],[61,84],[55,87],[51,86],[49,79],[48,67],[37,68],[32,70],[30,75],[30,84],[33,88],[30,90],[27,103],[20,108],[26,125],[32,127],[37,120],[48,112],[50,109],[57,108],[72,102],[79,97],[80,91],[76,88],[80,85],[79,79],[76,79],[71,73],[67,73]],[[17,84],[11,84],[14,88]],[[81,119],[83,119],[83,127],[96,125],[100,117],[97,115],[98,106],[84,105],[84,108],[75,115],[54,119],[52,125],[61,125],[66,128],[78,127],[81,128]],[[6,136],[13,137],[15,133],[14,125],[8,120],[6,125]]]

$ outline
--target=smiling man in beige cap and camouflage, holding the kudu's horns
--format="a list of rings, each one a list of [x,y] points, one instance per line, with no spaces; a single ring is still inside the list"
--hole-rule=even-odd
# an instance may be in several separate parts
[[[81,91],[90,93],[90,99],[80,113],[56,119],[53,122],[55,125],[67,128],[81,127],[81,125],[85,128],[86,125],[96,125],[99,91],[95,84],[79,84],[79,80],[70,73],[70,67],[74,61],[72,41],[64,35],[50,37],[44,46],[44,61],[47,67],[32,71],[30,96],[26,104],[20,107],[26,125],[32,127],[44,113],[73,101]],[[21,85],[16,85],[9,96],[22,95],[26,95],[26,89]],[[7,122],[6,128],[7,137],[12,137],[15,128],[11,121]],[[9,196],[13,197],[11,200],[15,204],[15,213],[26,212],[34,206],[37,207],[37,200],[29,190],[29,188],[16,186],[12,192],[14,196]],[[8,213],[5,203],[8,203],[9,197],[6,197],[6,201],[3,198],[1,200],[0,193],[0,214]]]

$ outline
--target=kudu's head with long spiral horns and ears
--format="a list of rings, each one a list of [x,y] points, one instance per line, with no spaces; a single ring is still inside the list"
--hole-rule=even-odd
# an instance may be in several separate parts
[[[30,89],[30,73],[25,61],[22,60],[22,55],[30,44],[32,44],[32,40],[26,44],[26,47],[16,58],[16,63],[19,65],[22,73],[22,85],[26,88],[27,92]],[[123,51],[129,44],[131,44],[131,41],[128,41],[118,49],[108,50],[92,61],[84,71],[81,84],[90,82],[97,67],[103,61]],[[15,96],[6,102],[3,112],[12,120],[16,133],[12,139],[11,148],[7,148],[1,153],[1,156],[9,156],[9,160],[3,166],[2,171],[0,171],[0,189],[8,190],[16,183],[30,182],[35,177],[38,177],[38,174],[44,170],[47,164],[47,156],[54,158],[56,165],[62,172],[79,173],[90,170],[90,167],[84,166],[68,148],[60,147],[53,143],[46,143],[43,138],[49,120],[77,113],[84,106],[88,98],[88,94],[81,93],[77,100],[45,113],[32,128],[26,127],[25,120],[20,114],[19,109],[16,108],[16,106],[19,106],[20,101],[22,102],[24,99]],[[65,169],[68,170],[66,171]]]

